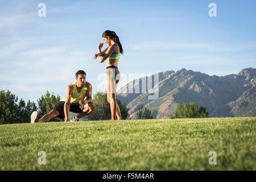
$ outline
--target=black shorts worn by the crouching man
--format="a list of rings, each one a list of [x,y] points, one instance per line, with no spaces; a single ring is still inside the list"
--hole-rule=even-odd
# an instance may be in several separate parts
[[[54,110],[59,111],[59,115],[57,116],[60,119],[64,119],[65,118],[65,114],[64,114],[64,101],[60,101],[58,102],[55,107]],[[73,113],[82,113],[82,109],[84,108],[84,104],[70,104],[69,106],[69,111],[73,112]]]

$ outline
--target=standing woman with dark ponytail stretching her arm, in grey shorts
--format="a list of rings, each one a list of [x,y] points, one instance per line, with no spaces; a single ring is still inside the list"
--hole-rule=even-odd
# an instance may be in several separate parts
[[[118,61],[120,54],[123,54],[123,48],[119,41],[117,34],[114,31],[106,30],[102,34],[102,39],[108,48],[101,51],[103,43],[98,44],[98,53],[94,55],[94,59],[100,57],[100,62],[103,63],[106,59],[108,62],[106,64],[106,81],[107,81],[107,92],[108,92],[108,102],[110,104],[111,119],[121,120],[122,116],[120,113],[119,106],[116,99],[117,84],[120,79],[120,72],[118,71]]]

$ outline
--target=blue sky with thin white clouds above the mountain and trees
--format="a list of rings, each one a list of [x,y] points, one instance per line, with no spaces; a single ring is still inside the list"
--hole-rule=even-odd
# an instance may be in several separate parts
[[[38,4],[46,4],[46,17]],[[209,3],[217,17],[209,17]],[[93,93],[105,63],[93,59],[113,30],[125,54],[123,77],[181,68],[225,76],[255,68],[256,1],[0,1],[0,90],[36,101],[84,69]],[[123,79],[121,84],[126,83]]]

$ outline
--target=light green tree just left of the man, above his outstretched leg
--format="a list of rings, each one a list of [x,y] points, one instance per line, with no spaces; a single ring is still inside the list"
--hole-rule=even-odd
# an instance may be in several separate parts
[[[55,104],[60,101],[60,96],[57,94],[57,96],[52,93],[52,95],[49,93],[49,91],[46,91],[46,94],[42,95],[41,98],[38,100],[38,107],[39,107],[39,118],[42,117],[44,114],[49,113],[51,111]],[[59,121],[60,119],[55,118],[55,120]]]

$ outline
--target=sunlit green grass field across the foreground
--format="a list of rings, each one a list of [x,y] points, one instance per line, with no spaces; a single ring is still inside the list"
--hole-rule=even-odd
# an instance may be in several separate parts
[[[0,125],[0,169],[255,170],[255,131],[256,118]]]

